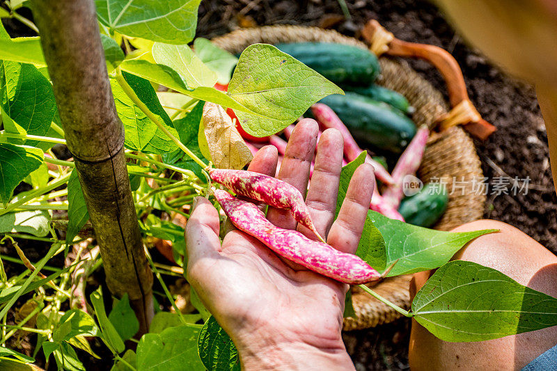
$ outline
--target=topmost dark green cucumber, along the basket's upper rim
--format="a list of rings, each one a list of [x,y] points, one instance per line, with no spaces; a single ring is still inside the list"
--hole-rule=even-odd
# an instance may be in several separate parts
[[[379,75],[377,56],[366,49],[329,42],[276,45],[335,84],[367,86]]]

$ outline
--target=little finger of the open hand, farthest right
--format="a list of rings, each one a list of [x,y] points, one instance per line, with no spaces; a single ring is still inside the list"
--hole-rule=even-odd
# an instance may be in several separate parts
[[[350,180],[338,217],[331,227],[327,243],[345,253],[355,253],[375,188],[370,164],[360,165]]]

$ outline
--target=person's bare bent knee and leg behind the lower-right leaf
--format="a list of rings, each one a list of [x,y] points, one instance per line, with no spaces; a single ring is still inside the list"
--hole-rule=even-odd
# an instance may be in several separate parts
[[[501,232],[474,239],[453,259],[497,269],[522,285],[557,297],[557,256],[517,228],[481,220],[453,232],[491,228]],[[414,275],[412,297],[429,276],[429,272]],[[409,361],[413,371],[520,370],[556,344],[557,326],[483,342],[444,342],[413,320]]]

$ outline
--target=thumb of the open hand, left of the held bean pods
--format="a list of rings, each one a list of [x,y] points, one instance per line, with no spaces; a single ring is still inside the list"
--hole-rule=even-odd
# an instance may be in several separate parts
[[[194,211],[187,221],[185,232],[188,265],[218,255],[221,249],[219,227],[217,209],[206,198],[194,198]]]

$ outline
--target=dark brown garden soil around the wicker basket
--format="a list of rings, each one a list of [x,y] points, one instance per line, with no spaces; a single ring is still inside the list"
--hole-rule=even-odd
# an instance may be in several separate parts
[[[485,217],[505,221],[557,252],[557,196],[551,180],[547,134],[532,86],[508,77],[478,50],[468,47],[431,3],[424,0],[347,1],[352,22],[345,22],[337,0],[204,0],[198,36],[212,38],[239,27],[267,24],[326,26],[358,36],[377,19],[395,37],[447,49],[464,73],[472,102],[497,127],[487,141],[476,141],[489,180],[530,177],[528,194],[488,196]],[[411,65],[439,90],[444,81],[425,62]],[[344,334],[357,370],[407,370],[409,321]]]

